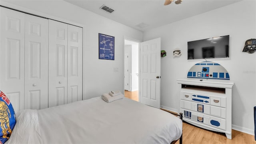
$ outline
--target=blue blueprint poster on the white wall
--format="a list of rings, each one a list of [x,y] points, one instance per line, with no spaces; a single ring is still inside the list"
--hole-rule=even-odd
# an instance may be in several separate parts
[[[99,33],[99,59],[115,60],[115,37]]]

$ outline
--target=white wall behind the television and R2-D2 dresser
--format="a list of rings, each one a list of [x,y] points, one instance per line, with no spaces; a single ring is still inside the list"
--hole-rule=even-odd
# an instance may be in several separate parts
[[[188,70],[197,62],[187,60],[187,42],[230,35],[230,58],[209,59],[226,68],[232,90],[232,128],[254,134],[253,107],[256,106],[256,53],[242,52],[246,40],[256,38],[256,1],[245,0],[218,8],[198,16],[148,30],[143,40],[161,37],[161,105],[180,111],[180,85],[177,79],[186,78]],[[166,17],[168,18],[168,17]],[[182,51],[173,58],[174,49]]]

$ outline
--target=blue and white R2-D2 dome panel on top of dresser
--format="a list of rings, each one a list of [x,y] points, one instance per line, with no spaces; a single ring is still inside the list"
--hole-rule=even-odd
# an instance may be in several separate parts
[[[230,80],[227,70],[215,62],[200,62],[188,71],[188,78]]]

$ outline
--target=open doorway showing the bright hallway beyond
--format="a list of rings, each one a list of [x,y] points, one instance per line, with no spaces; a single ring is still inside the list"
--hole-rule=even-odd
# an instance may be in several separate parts
[[[124,39],[124,96],[139,102],[139,42]]]

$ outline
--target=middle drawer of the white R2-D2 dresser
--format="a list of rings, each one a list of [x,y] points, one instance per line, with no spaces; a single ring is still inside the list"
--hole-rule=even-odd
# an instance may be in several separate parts
[[[186,100],[180,101],[180,107],[186,110],[192,110],[194,112],[199,112],[202,114],[208,114],[208,115],[217,116],[220,118],[226,118],[226,108],[220,108],[217,106],[210,106],[207,104],[200,104],[200,103],[190,102]]]

